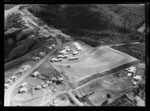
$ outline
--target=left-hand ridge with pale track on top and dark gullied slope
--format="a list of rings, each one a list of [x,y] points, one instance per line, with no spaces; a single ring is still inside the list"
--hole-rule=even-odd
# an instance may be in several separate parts
[[[48,27],[34,17],[27,8],[32,5],[16,5],[5,10],[4,46],[5,62],[17,59],[30,51],[42,47],[47,38],[66,35]]]

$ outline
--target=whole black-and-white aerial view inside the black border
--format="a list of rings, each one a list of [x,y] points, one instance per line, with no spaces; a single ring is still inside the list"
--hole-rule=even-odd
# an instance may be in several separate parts
[[[145,4],[5,4],[4,107],[145,107]]]

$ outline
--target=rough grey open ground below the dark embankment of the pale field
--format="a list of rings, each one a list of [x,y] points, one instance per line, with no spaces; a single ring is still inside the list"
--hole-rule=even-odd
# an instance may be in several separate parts
[[[100,106],[107,100],[107,94],[111,96],[108,102],[114,101],[132,86],[131,78],[118,78],[115,74],[104,76],[88,85],[75,90],[80,96],[89,95],[88,99],[94,106]]]

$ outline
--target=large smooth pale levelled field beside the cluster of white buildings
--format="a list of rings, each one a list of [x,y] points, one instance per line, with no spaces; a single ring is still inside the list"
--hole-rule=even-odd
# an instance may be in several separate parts
[[[69,78],[70,82],[76,83],[93,74],[110,70],[136,60],[136,58],[125,53],[110,47],[101,46],[88,51],[85,57],[77,60],[79,62],[68,62],[65,64],[60,62],[60,64],[57,63],[52,65],[59,72],[63,72]]]

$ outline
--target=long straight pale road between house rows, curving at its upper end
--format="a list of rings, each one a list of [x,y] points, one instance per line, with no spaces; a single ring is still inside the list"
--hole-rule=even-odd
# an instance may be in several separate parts
[[[12,90],[21,82],[23,81],[30,73],[32,73],[36,68],[38,68],[42,63],[44,63],[47,59],[50,58],[50,56],[56,52],[58,49],[61,49],[62,43],[60,39],[56,39],[58,45],[55,47],[52,52],[47,54],[43,59],[41,59],[35,66],[33,66],[29,71],[27,71],[24,75],[22,75],[14,84],[12,84],[8,90],[6,90],[5,95],[4,95],[4,106],[10,106],[10,101],[11,101],[11,92]]]

